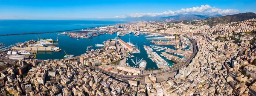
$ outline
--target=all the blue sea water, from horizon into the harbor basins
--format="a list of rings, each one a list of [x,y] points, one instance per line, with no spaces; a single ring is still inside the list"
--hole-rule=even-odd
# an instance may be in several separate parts
[[[70,30],[70,29],[81,29],[81,28],[91,28],[91,27],[99,27],[99,26],[108,26],[114,25],[117,23],[128,23],[126,21],[100,21],[100,20],[0,20],[0,35],[6,34],[16,34],[16,33],[32,33],[32,32],[54,32],[54,31],[62,31],[62,30]],[[79,30],[73,30],[79,31]],[[70,31],[67,31],[70,32]],[[104,41],[108,39],[114,39],[117,37],[116,33],[113,35],[104,34],[99,35],[97,37],[93,37],[90,39],[79,39],[79,38],[70,38],[67,35],[57,35],[57,33],[45,33],[45,34],[29,34],[29,35],[8,35],[8,36],[0,36],[0,43],[6,44],[6,46],[15,44],[17,42],[22,43],[29,40],[38,40],[38,38],[46,38],[46,39],[54,39],[58,37],[57,47],[60,47],[62,50],[69,55],[81,55],[86,53],[88,46],[93,46],[90,49],[99,49],[101,47],[96,47],[95,44],[102,44]],[[137,45],[140,48],[140,53],[134,53],[137,58],[143,58],[147,61],[146,68],[157,69],[157,65],[150,58],[147,58],[143,45],[149,46],[153,45],[150,41],[146,40],[145,35],[134,36],[125,35],[121,37],[117,37],[122,39],[125,42],[131,42],[134,45]],[[164,46],[171,49],[174,49],[174,46]],[[155,50],[154,50],[155,51]],[[157,52],[157,51],[155,51]],[[157,52],[159,55],[161,52]],[[65,55],[64,51],[61,52],[38,52],[36,59],[61,59]],[[172,54],[175,55],[175,54]],[[182,55],[175,55],[180,58],[184,58]],[[134,57],[134,58],[135,58]],[[163,56],[161,56],[164,58]],[[128,63],[131,67],[137,67],[135,64],[131,62],[131,59],[128,58]],[[166,58],[164,58],[166,59]],[[169,61],[169,66],[175,64],[173,61]]]

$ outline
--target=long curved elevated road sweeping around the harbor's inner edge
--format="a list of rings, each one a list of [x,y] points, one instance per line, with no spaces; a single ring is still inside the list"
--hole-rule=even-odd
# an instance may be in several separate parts
[[[192,41],[192,44],[193,44],[193,53],[189,58],[186,59],[185,62],[180,63],[180,64],[176,64],[176,65],[172,66],[169,70],[164,70],[164,71],[161,71],[161,72],[152,73],[151,75],[155,76],[155,75],[159,75],[159,74],[162,74],[162,73],[175,72],[175,71],[179,70],[182,67],[186,67],[190,63],[192,58],[195,57],[195,54],[197,53],[197,46],[196,46],[196,43],[195,43],[196,41],[195,40],[190,40],[190,41]],[[108,74],[108,75],[113,76],[113,77],[118,78],[118,79],[132,79],[132,78],[141,78],[141,77],[149,76],[149,74],[138,75],[138,76],[127,76],[127,75],[122,75],[122,74],[118,74],[118,73],[111,73],[110,71],[102,70],[99,67],[89,66],[89,68],[91,68],[93,70],[98,70],[102,73]]]

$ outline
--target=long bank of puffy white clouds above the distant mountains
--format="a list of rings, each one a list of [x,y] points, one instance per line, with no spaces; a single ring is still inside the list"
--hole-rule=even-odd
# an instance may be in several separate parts
[[[177,11],[168,10],[162,13],[135,13],[123,15],[122,17],[156,17],[156,16],[171,16],[171,15],[180,15],[180,14],[197,14],[197,15],[230,15],[236,14],[239,10],[237,9],[219,9],[211,7],[209,5],[201,5],[201,7],[192,7],[187,9],[180,9]]]

